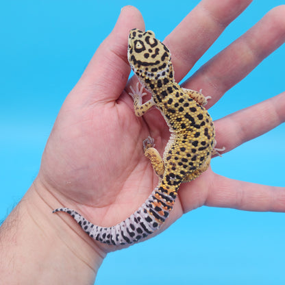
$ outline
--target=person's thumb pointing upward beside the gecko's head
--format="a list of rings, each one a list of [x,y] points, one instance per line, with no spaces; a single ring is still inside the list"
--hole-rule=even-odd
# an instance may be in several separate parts
[[[101,43],[90,60],[80,85],[88,88],[94,101],[116,100],[125,88],[130,67],[127,62],[127,38],[129,30],[144,29],[143,16],[133,6],[125,6],[111,34]],[[90,95],[90,93],[89,93]]]

